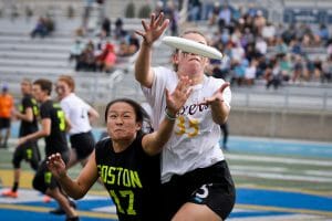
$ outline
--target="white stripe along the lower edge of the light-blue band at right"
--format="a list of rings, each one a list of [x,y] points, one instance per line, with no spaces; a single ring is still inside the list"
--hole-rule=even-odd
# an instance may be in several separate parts
[[[310,165],[310,166],[323,166],[331,167],[332,161],[328,160],[313,160],[313,159],[289,159],[281,157],[261,157],[261,156],[243,156],[235,154],[226,154],[226,159],[247,160],[247,161],[264,161],[264,162],[282,162],[289,165]]]

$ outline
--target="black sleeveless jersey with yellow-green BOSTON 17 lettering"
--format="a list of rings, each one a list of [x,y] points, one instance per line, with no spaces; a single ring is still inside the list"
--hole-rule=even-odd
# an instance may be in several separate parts
[[[96,144],[98,175],[116,206],[120,221],[158,220],[160,156],[144,152],[143,136],[137,136],[122,152],[114,151],[110,138]]]

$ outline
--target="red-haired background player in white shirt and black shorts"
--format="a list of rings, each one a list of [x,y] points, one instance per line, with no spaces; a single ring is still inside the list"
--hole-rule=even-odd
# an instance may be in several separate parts
[[[71,123],[71,155],[68,167],[79,161],[84,166],[94,149],[95,140],[90,122],[100,117],[98,113],[74,94],[75,82],[69,75],[61,75],[56,82],[56,93],[61,108]]]

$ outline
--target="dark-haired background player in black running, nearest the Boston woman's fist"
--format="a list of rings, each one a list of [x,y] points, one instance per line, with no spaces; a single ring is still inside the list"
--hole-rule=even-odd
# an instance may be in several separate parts
[[[52,154],[60,152],[65,162],[69,160],[69,147],[65,137],[66,119],[59,103],[51,99],[52,82],[49,80],[37,80],[32,92],[34,98],[41,103],[41,129],[21,137],[19,144],[38,138],[45,138],[45,159],[41,162],[33,178],[33,188],[52,197],[66,213],[66,220],[79,220],[77,213],[71,207],[68,197],[61,191],[56,180],[48,170],[46,158]]]

